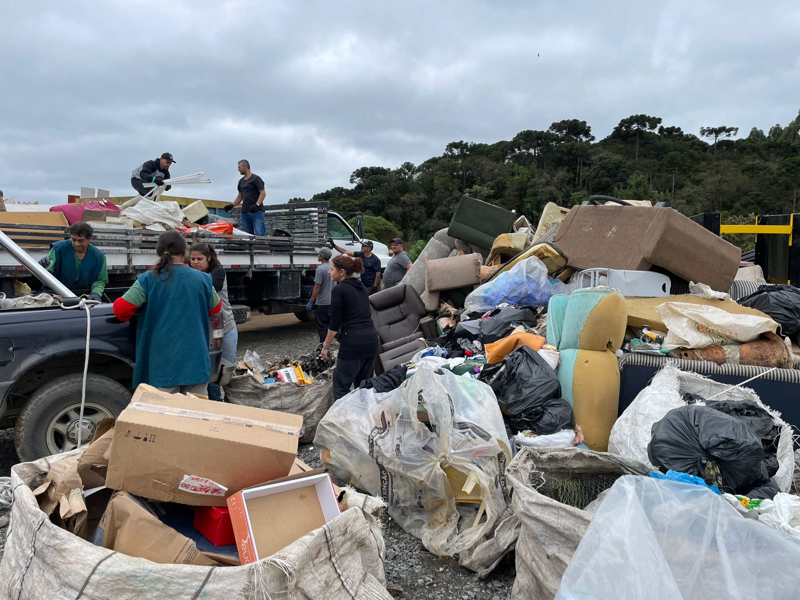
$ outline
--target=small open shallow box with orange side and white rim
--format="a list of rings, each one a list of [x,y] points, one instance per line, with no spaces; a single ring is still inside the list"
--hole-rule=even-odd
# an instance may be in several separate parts
[[[228,508],[242,565],[275,554],[341,513],[322,469],[242,490],[228,498]]]

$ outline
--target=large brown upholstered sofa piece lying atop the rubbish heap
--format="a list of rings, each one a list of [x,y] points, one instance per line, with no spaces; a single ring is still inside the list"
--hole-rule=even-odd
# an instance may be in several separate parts
[[[742,251],[671,208],[575,206],[554,244],[576,270],[650,270],[726,292]]]

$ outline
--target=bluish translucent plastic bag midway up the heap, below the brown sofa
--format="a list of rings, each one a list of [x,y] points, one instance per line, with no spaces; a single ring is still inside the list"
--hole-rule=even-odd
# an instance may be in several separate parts
[[[535,256],[526,258],[470,293],[466,312],[493,310],[507,302],[518,306],[546,306],[556,294],[569,294],[570,286],[547,277],[547,267]]]

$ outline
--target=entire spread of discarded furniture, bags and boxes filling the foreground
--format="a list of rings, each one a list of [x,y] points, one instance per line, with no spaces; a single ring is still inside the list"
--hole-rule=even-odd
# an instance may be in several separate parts
[[[20,598],[141,592],[142,569],[175,597],[385,598],[386,506],[480,578],[514,552],[517,600],[793,597],[800,290],[618,204],[534,228],[462,198],[370,296],[376,374],[336,402],[318,352],[248,352],[228,403],[140,386],[86,450],[14,467],[0,576]],[[362,493],[295,460],[312,439]]]

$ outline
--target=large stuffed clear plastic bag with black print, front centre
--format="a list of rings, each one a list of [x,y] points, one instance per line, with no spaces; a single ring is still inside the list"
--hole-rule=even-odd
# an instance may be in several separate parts
[[[476,379],[423,363],[386,394],[355,390],[322,418],[314,446],[339,478],[384,498],[392,518],[434,554],[474,546],[506,508],[510,444],[494,392]],[[462,486],[474,483],[471,518],[459,513],[446,470],[451,481],[456,474]]]

